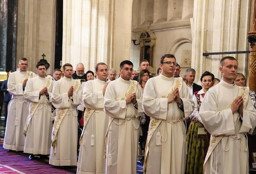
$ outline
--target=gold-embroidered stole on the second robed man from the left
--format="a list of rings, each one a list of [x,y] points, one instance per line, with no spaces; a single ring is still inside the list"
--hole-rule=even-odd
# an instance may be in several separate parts
[[[51,78],[47,78],[46,80],[46,84],[44,85],[44,88],[47,87],[47,89],[49,89],[49,87],[52,85],[52,79]],[[35,111],[37,110],[37,107],[40,105],[40,103],[42,102],[42,100],[44,99],[45,95],[42,95],[40,97],[40,100],[38,103],[33,103],[31,105],[31,108],[30,108],[30,111],[29,111],[29,115],[27,117],[27,121],[26,121],[26,124],[25,124],[25,127],[24,127],[24,136],[27,136],[27,129],[29,128],[29,124],[31,122],[31,119],[33,117],[33,115],[35,114]]]

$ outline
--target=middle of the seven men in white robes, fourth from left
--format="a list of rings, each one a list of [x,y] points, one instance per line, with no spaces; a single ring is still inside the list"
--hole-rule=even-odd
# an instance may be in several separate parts
[[[109,82],[108,66],[100,62],[95,66],[97,79],[88,80],[83,89],[84,128],[80,137],[77,174],[103,174],[106,171],[105,141],[108,117],[104,112],[104,95]]]

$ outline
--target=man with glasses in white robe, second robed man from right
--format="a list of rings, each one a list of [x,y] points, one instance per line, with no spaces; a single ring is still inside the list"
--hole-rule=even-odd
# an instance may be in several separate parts
[[[173,78],[176,65],[174,55],[163,55],[161,74],[145,85],[143,107],[151,117],[144,161],[147,174],[185,173],[187,144],[183,120],[193,112],[194,102],[182,78]]]

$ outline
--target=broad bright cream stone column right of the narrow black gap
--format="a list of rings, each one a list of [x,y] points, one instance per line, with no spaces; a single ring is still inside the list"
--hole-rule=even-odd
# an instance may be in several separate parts
[[[132,0],[64,0],[62,65],[98,62],[119,69],[130,59]]]

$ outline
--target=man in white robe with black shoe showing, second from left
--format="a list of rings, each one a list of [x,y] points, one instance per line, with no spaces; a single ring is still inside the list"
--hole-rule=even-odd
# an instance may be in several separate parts
[[[51,149],[51,92],[53,80],[46,78],[46,68],[44,63],[36,65],[37,77],[27,81],[24,97],[30,102],[29,115],[24,128],[25,147],[24,153],[31,154],[29,159],[34,159],[34,155],[49,155]]]

